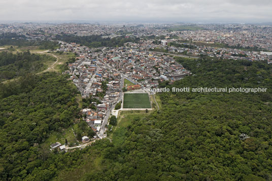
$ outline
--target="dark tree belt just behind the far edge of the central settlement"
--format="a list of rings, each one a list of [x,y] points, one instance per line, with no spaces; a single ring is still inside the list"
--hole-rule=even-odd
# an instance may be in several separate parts
[[[97,47],[121,47],[124,46],[127,42],[139,42],[139,38],[125,38],[124,36],[116,38],[102,38],[102,35],[89,35],[85,37],[79,37],[76,35],[56,35],[56,40],[68,42],[68,43],[77,43],[87,47],[97,48]]]

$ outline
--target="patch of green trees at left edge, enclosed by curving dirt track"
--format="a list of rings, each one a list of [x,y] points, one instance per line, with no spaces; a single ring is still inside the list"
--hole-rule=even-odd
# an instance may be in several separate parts
[[[55,61],[55,58],[47,55],[31,54],[29,51],[16,54],[0,52],[0,82],[13,79],[25,74],[38,73],[46,68],[45,62]]]

